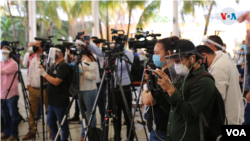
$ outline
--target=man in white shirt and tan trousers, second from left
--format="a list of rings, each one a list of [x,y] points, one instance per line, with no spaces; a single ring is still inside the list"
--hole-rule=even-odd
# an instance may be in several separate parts
[[[40,74],[39,74],[39,65],[40,65],[40,55],[43,53],[43,48],[41,46],[41,41],[36,41],[33,46],[38,48],[38,51],[29,59],[29,68],[27,75],[27,90],[29,91],[29,101],[31,107],[29,109],[29,123],[30,129],[29,132],[24,136],[23,140],[29,140],[35,137],[36,125],[34,118],[38,113],[38,107],[41,99],[40,95]],[[48,96],[44,91],[44,105],[46,111],[48,110]],[[31,110],[32,109],[32,110]],[[34,116],[34,117],[33,117]]]

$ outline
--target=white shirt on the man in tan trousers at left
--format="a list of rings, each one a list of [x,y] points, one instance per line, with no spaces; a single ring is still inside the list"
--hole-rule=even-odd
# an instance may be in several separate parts
[[[28,68],[27,85],[34,88],[40,88],[40,74],[39,74],[40,60],[37,60],[37,54],[30,60]]]

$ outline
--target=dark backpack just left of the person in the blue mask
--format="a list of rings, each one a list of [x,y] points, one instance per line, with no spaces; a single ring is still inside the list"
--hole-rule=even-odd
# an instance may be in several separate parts
[[[141,65],[139,57],[134,55],[134,62],[133,62],[133,65],[131,67],[131,77],[132,77],[131,81],[133,81],[133,82],[137,82],[137,81],[141,82],[142,75],[143,75],[143,69],[144,68]]]

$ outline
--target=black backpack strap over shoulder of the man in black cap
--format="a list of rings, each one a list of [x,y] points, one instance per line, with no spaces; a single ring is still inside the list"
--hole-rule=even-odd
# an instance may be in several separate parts
[[[188,94],[190,94],[190,91],[191,91],[193,85],[194,85],[196,82],[198,82],[198,81],[200,80],[200,78],[202,78],[202,77],[204,77],[204,76],[208,76],[208,77],[210,77],[210,78],[212,78],[212,79],[214,80],[213,76],[212,76],[210,73],[208,73],[208,72],[202,72],[202,73],[198,74],[198,75],[195,76],[195,78],[193,78],[193,79],[191,80],[191,82],[188,84],[188,87],[187,87],[187,88],[188,88],[188,89],[187,89]],[[205,117],[205,115],[204,115],[204,113],[201,112],[201,113],[199,114],[200,141],[204,141],[203,123],[204,123],[205,127],[208,127],[208,126],[209,126],[209,125],[208,125],[208,122],[207,122],[207,119],[206,119],[206,117]]]

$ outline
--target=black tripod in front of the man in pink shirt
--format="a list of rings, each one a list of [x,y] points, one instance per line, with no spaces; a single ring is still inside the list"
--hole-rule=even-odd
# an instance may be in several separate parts
[[[18,54],[18,56],[20,56],[19,52],[18,52],[17,54]],[[28,115],[28,109],[30,108],[30,110],[32,111],[32,108],[31,108],[31,104],[30,104],[30,101],[29,101],[29,98],[28,98],[27,91],[26,91],[27,89],[26,89],[26,87],[25,87],[25,85],[24,85],[24,81],[23,81],[23,77],[22,77],[22,72],[20,71],[20,67],[19,67],[19,64],[20,64],[20,63],[19,63],[19,58],[17,59],[17,64],[18,64],[18,71],[15,72],[15,75],[14,75],[12,81],[11,81],[11,84],[10,84],[10,87],[9,87],[9,89],[8,89],[8,92],[7,92],[7,94],[6,94],[6,96],[5,96],[5,99],[4,99],[4,101],[2,102],[2,105],[1,105],[1,107],[0,107],[0,111],[2,110],[2,108],[3,108],[3,106],[4,106],[5,102],[6,102],[6,99],[7,99],[8,95],[9,95],[9,92],[10,92],[10,90],[11,90],[11,87],[12,87],[12,85],[13,85],[13,83],[14,83],[14,80],[15,80],[16,76],[18,76],[18,79],[19,79],[19,81],[20,81],[20,83],[21,83],[21,87],[22,87],[23,99],[24,99],[24,104],[25,104],[25,111],[26,111],[26,115],[27,115],[27,117],[28,117],[28,116],[29,116],[29,115]],[[7,113],[5,110],[4,110],[4,112]],[[35,122],[35,126],[37,126],[37,123],[36,123],[36,121],[35,121],[33,112],[31,112],[31,114],[32,114],[32,118],[33,118],[33,120],[34,120],[34,122]],[[9,119],[8,119],[8,122],[10,122]],[[11,123],[11,122],[10,122],[10,123]],[[31,129],[29,120],[28,120],[28,125],[29,125],[29,129]],[[13,128],[13,127],[11,127],[11,128]],[[13,129],[12,129],[12,130],[13,130]],[[37,128],[36,128],[36,132],[37,132]],[[38,132],[37,132],[37,133],[38,133]],[[38,134],[38,137],[39,137],[39,134]],[[18,140],[19,140],[19,138],[18,138]],[[35,140],[35,137],[32,137],[32,141],[33,141],[33,140]]]

